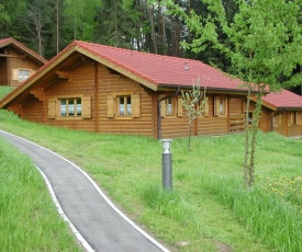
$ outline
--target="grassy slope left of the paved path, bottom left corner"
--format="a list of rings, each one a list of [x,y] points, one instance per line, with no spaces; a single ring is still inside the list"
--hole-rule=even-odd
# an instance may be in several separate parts
[[[80,251],[32,161],[2,139],[0,171],[1,251]]]

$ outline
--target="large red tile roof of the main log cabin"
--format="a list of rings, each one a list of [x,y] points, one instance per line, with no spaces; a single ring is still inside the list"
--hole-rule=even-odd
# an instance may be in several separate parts
[[[121,49],[79,41],[76,41],[75,44],[126,69],[133,75],[150,81],[157,87],[190,87],[193,80],[200,78],[200,84],[209,89],[244,90],[239,87],[243,81],[233,79],[221,70],[198,60]],[[188,70],[184,69],[186,65]]]

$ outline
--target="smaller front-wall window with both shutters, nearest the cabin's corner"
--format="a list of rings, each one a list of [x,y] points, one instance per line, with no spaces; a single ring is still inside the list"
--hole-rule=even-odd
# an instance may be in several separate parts
[[[141,117],[141,99],[136,93],[113,93],[107,98],[107,116],[109,118]]]

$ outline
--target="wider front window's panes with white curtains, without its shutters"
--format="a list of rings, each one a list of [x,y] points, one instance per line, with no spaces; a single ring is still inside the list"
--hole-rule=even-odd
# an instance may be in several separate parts
[[[81,99],[59,99],[59,116],[81,116]]]

